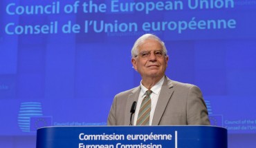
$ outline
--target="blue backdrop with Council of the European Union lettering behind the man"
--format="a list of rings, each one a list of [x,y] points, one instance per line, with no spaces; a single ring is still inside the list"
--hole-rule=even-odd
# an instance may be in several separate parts
[[[168,77],[201,88],[228,145],[253,147],[255,14],[254,0],[0,1],[0,147],[106,125],[115,94],[140,83],[131,47],[145,33],[165,42]]]

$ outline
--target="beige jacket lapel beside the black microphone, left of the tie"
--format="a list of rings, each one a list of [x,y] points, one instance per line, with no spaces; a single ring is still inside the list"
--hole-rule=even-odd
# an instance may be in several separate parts
[[[140,94],[140,86],[136,87],[133,91],[131,91],[131,94],[127,98],[127,103],[125,107],[125,125],[130,124],[130,117],[131,117],[131,105],[134,103],[134,101],[138,102],[138,96]],[[134,123],[134,115],[131,119],[131,123]]]

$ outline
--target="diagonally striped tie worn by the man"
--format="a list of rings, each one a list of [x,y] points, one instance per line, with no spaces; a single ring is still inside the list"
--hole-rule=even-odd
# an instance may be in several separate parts
[[[138,119],[136,125],[149,125],[149,116],[151,111],[151,90],[147,90],[145,98],[140,105],[140,111],[138,112]]]

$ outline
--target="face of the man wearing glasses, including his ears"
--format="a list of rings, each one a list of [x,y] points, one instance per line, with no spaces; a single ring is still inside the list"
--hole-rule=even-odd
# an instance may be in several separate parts
[[[147,57],[143,55],[149,53]],[[163,47],[158,41],[147,39],[138,47],[138,56],[131,59],[134,69],[140,73],[142,78],[163,77],[169,60],[168,56],[159,57],[159,52],[163,53]]]

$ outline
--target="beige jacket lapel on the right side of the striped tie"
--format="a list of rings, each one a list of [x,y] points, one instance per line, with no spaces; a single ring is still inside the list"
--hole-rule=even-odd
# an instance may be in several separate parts
[[[154,112],[154,117],[152,120],[152,125],[159,125],[160,120],[165,112],[165,108],[170,101],[172,93],[174,92],[172,81],[165,76],[165,81],[161,88],[159,98],[156,104],[156,110]]]

